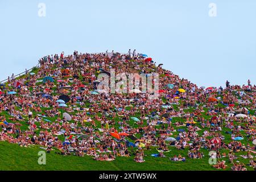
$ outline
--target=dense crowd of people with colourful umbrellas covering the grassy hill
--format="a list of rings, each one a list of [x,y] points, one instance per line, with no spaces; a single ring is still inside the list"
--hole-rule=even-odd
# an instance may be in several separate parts
[[[39,63],[40,68],[1,85],[0,140],[100,161],[133,157],[137,163],[145,162],[144,151],[152,148],[164,157],[175,146],[177,152],[187,150],[188,159],[197,160],[205,157],[202,150],[229,150],[232,170],[246,169],[245,164],[233,163],[233,152],[255,154],[256,86],[250,80],[242,86],[227,81],[226,88],[199,88],[136,50],[75,51],[67,56],[61,52],[42,57]],[[109,75],[110,69],[116,75],[158,73],[159,97],[97,89],[102,81],[97,76]],[[171,158],[185,160],[179,154]],[[213,167],[224,169],[228,162]],[[250,158],[250,166],[255,169],[254,159]]]

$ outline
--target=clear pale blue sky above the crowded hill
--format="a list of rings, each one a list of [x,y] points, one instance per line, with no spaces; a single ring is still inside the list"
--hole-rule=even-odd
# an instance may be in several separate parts
[[[256,84],[255,8],[255,0],[0,0],[0,80],[62,51],[130,48],[198,86]]]

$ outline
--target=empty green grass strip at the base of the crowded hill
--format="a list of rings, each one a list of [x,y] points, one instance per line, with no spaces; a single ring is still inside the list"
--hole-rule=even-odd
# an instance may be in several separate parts
[[[174,147],[175,148],[175,147]],[[43,151],[39,146],[31,146],[28,148],[20,147],[18,144],[10,144],[7,142],[0,142],[0,169],[1,170],[18,170],[18,171],[45,171],[45,170],[68,170],[68,171],[91,171],[91,170],[127,170],[127,171],[209,171],[214,169],[208,163],[209,156],[207,150],[204,151],[205,157],[203,159],[187,159],[186,162],[173,162],[169,159],[175,154],[186,155],[188,150],[177,151],[172,150],[164,153],[166,158],[155,158],[150,156],[156,154],[155,148],[151,151],[145,151],[147,156],[144,157],[144,163],[136,163],[133,161],[133,156],[130,158],[118,157],[112,162],[100,162],[92,158],[92,156],[62,156],[55,154],[56,151],[46,153],[46,165],[38,164],[39,151]],[[222,158],[227,159],[227,158]],[[239,158],[240,162],[249,163],[249,159]],[[227,162],[228,167],[224,170],[230,170],[232,164]],[[248,170],[253,168],[247,166]],[[222,169],[223,170],[223,169]]]

